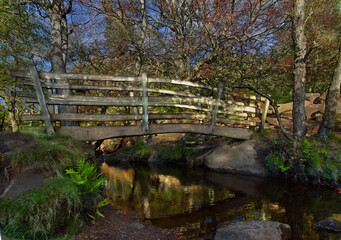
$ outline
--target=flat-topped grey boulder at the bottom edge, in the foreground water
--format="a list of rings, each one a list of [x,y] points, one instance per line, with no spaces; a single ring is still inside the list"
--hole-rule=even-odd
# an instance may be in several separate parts
[[[288,224],[272,221],[234,222],[218,228],[214,240],[287,240],[291,238]]]

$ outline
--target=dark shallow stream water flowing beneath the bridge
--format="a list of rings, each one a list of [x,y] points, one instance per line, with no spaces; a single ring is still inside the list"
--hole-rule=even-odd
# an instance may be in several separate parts
[[[341,239],[314,226],[328,217],[341,221],[341,195],[328,187],[169,166],[104,163],[103,173],[114,207],[184,239],[213,239],[217,226],[236,220],[288,223],[292,239]]]

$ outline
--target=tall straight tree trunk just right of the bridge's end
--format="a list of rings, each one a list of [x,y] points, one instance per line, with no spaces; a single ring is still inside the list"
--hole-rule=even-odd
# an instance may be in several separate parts
[[[294,146],[301,142],[306,133],[305,82],[306,44],[304,35],[304,0],[294,0],[292,38],[294,43],[294,94],[293,94],[293,133]]]

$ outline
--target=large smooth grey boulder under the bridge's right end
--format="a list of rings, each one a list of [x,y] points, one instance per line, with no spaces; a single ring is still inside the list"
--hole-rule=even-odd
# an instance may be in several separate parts
[[[204,165],[212,170],[266,176],[256,152],[256,140],[238,145],[222,145],[203,156]]]

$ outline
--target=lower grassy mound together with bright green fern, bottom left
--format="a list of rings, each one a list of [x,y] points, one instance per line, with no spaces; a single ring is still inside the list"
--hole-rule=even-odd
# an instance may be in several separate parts
[[[15,238],[46,239],[56,234],[77,233],[85,215],[104,217],[99,208],[102,177],[98,168],[80,158],[69,177],[53,178],[39,189],[0,201],[0,227]]]

